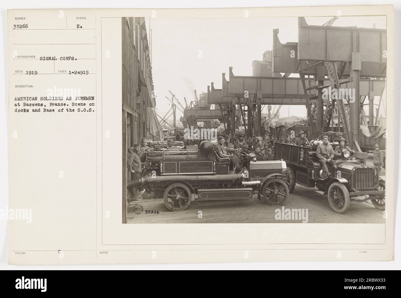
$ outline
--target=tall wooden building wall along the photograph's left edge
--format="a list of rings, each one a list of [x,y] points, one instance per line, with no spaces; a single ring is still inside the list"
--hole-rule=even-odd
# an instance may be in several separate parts
[[[126,184],[130,181],[130,173],[126,170],[128,148],[139,143],[141,138],[160,140],[160,135],[153,135],[148,125],[148,122],[154,120],[155,106],[145,18],[122,18],[123,214],[127,198]]]

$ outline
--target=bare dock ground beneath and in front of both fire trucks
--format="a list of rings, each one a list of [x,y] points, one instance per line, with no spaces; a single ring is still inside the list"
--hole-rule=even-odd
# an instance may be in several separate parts
[[[315,192],[317,189],[297,184],[290,193],[285,209],[308,209],[308,223],[384,223],[383,211],[376,209],[370,201],[351,202],[344,214],[334,212],[326,195]],[[134,213],[134,205],[128,207],[127,223],[301,223],[302,220],[277,220],[276,209],[282,206],[268,205],[257,195],[248,200],[192,201],[189,207],[180,212],[169,211],[163,199],[142,199],[136,202],[143,211]],[[141,208],[141,209],[142,209]],[[146,210],[156,211],[147,214]],[[157,211],[159,212],[157,214]],[[198,215],[201,211],[202,218]],[[304,213],[305,214],[305,213]]]

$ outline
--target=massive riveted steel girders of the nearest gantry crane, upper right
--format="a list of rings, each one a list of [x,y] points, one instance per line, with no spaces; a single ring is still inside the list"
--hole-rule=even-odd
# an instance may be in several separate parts
[[[385,77],[387,31],[384,29],[308,26],[299,18],[298,43],[282,44],[273,29],[273,72],[316,74],[320,61],[352,61],[352,48],[360,49],[361,77]],[[357,44],[355,44],[357,43]],[[310,61],[312,63],[307,63]],[[313,63],[314,62],[314,63]],[[311,66],[312,65],[312,66]],[[350,68],[344,69],[349,76]]]

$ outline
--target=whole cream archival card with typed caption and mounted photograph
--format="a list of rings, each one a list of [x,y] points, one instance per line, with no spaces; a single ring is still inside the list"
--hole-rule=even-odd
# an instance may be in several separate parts
[[[393,259],[392,6],[8,10],[7,32],[10,264]]]

